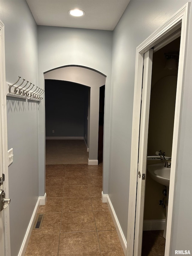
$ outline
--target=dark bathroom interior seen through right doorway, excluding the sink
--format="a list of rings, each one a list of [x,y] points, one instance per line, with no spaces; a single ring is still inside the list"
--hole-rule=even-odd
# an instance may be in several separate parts
[[[165,165],[164,159],[160,160],[160,156],[156,155],[157,151],[165,152],[163,155],[168,163],[172,155],[180,40],[181,37],[178,37],[153,53],[147,165]],[[152,177],[147,170],[142,256],[150,253],[154,256],[164,255],[165,251],[169,186]]]

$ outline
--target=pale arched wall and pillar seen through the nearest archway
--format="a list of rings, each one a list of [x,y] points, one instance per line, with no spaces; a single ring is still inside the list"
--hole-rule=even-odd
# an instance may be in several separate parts
[[[90,87],[90,118],[88,132],[89,165],[98,164],[99,96],[106,76],[82,66],[64,66],[44,73],[44,79],[64,80]]]

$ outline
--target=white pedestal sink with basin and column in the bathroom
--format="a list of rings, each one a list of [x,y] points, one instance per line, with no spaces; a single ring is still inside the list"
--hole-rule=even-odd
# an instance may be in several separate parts
[[[166,168],[164,166],[165,166],[164,162],[159,164],[150,164],[147,166],[147,172],[149,173],[152,179],[154,179],[158,183],[165,185],[167,187],[167,206],[166,206],[165,227],[164,227],[164,233],[163,233],[164,238],[166,238],[167,210],[168,210],[169,182],[170,182],[171,168]]]

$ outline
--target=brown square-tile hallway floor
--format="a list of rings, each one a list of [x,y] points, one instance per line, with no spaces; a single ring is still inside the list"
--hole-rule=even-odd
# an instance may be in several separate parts
[[[26,256],[124,256],[107,203],[101,201],[102,165],[46,165],[42,227]]]

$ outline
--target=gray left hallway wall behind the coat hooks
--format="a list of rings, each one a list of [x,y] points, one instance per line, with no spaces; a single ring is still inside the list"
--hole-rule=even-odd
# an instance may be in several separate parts
[[[37,85],[37,25],[24,0],[0,1],[5,25],[6,80],[18,76]],[[38,193],[38,103],[7,97],[11,255],[18,255]]]

